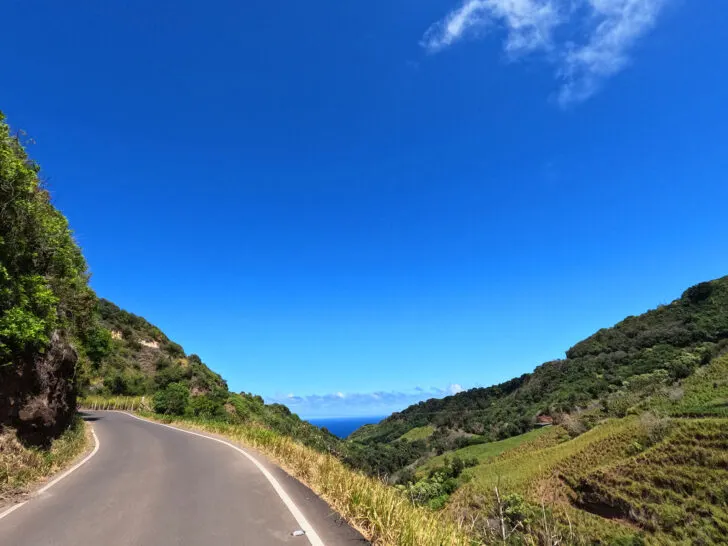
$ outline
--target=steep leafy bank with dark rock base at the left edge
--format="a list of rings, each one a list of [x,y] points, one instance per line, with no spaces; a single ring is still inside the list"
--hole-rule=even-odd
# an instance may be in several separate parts
[[[0,113],[0,433],[46,443],[71,422],[96,331],[86,262]]]

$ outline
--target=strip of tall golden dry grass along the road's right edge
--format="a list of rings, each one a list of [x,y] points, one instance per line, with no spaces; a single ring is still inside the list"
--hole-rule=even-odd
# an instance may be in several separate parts
[[[471,546],[479,543],[465,526],[456,525],[446,514],[415,506],[396,489],[348,469],[333,455],[317,452],[270,430],[188,419],[163,421],[218,434],[265,453],[325,499],[373,544]]]

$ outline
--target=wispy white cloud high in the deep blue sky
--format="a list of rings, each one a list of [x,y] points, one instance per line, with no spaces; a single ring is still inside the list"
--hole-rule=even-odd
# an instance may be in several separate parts
[[[629,50],[670,0],[466,0],[432,25],[422,46],[438,52],[504,28],[511,59],[541,53],[556,67],[562,106],[586,100],[629,63]],[[577,34],[578,38],[573,36]]]

